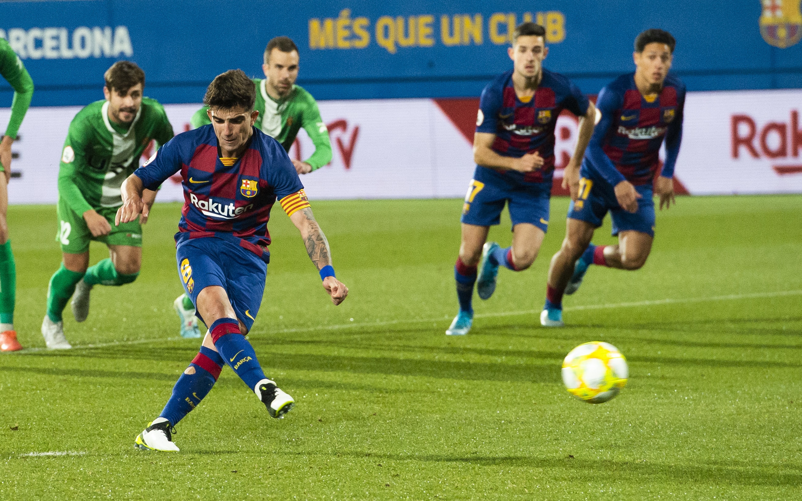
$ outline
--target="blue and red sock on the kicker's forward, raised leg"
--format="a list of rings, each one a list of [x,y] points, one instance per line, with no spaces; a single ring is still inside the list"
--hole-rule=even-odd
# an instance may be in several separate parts
[[[236,318],[221,318],[209,326],[214,347],[234,373],[254,391],[258,382],[265,379],[253,346],[240,332]]]

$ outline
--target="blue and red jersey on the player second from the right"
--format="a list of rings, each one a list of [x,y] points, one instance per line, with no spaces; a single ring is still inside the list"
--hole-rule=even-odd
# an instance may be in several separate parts
[[[512,70],[484,87],[479,99],[476,132],[496,135],[492,150],[499,155],[521,157],[538,152],[543,167],[534,172],[499,171],[533,183],[550,183],[554,172],[554,127],[561,111],[584,116],[588,98],[559,73],[543,70],[532,99],[522,101],[512,87]]]

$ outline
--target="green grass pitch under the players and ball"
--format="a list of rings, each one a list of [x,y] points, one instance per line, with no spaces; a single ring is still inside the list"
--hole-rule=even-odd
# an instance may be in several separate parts
[[[569,325],[543,329],[566,207],[553,200],[531,269],[475,296],[460,338],[444,335],[459,200],[314,203],[351,291],[339,307],[274,210],[249,338],[297,406],[269,418],[224,369],[177,426],[177,454],[133,441],[199,345],[172,311],[180,205],[156,205],[134,284],[96,287],[83,324],[67,308],[67,352],[39,333],[55,208],[11,207],[26,351],[0,355],[0,499],[802,498],[802,197],[679,199],[643,269],[591,268],[565,300]],[[508,244],[508,220],[491,237]],[[609,220],[595,241],[614,242]],[[560,377],[593,340],[630,363],[622,394],[596,406]]]

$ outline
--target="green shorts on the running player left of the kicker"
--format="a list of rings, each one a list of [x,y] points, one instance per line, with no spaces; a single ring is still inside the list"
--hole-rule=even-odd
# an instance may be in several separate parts
[[[83,254],[89,250],[89,242],[91,240],[107,245],[142,247],[142,226],[139,220],[115,226],[116,207],[104,207],[95,210],[111,224],[111,233],[108,235],[92,236],[92,232],[89,231],[83,216],[76,214],[71,208],[67,207],[63,200],[59,199],[59,232],[56,233],[55,240],[61,244],[63,253]]]

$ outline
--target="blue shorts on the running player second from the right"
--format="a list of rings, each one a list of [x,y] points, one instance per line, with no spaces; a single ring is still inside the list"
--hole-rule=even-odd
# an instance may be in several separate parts
[[[549,229],[551,183],[525,183],[493,169],[476,166],[460,221],[476,226],[500,223],[504,204],[509,204],[512,226],[534,224],[544,232]]]

